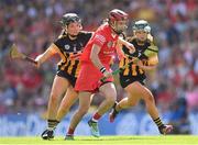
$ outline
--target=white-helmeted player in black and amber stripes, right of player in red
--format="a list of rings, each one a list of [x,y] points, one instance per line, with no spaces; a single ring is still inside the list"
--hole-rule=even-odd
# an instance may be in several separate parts
[[[156,54],[152,57],[146,57],[144,55],[146,49],[151,51],[152,47],[156,47],[150,32],[151,27],[146,21],[136,21],[133,26],[134,37],[128,40],[134,45],[135,52],[131,54],[125,47],[123,47],[124,53],[128,54],[129,57],[123,58],[120,62],[120,68],[128,64],[130,59],[138,57],[139,60],[130,64],[120,72],[120,83],[128,92],[128,97],[114,104],[113,110],[110,113],[110,122],[114,121],[119,111],[134,107],[140,99],[143,99],[146,104],[146,110],[157,125],[160,133],[167,134],[173,130],[173,126],[162,123],[155,105],[154,97],[152,92],[144,86],[144,80],[146,78],[145,71],[155,68],[158,64],[156,51],[153,49],[153,52]]]

